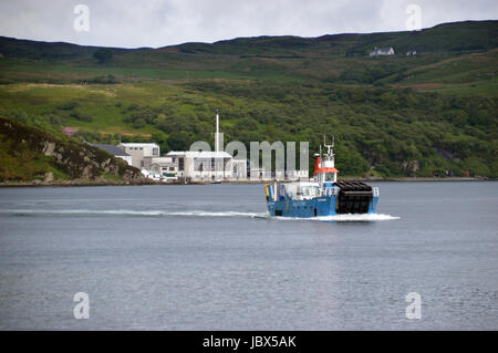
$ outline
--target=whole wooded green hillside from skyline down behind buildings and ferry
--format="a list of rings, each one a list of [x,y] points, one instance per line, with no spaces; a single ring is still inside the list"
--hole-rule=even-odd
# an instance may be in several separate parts
[[[0,38],[0,116],[91,142],[309,141],[343,175],[498,176],[498,21],[159,49]],[[371,58],[393,46],[394,58]],[[105,63],[93,55],[112,53]],[[417,55],[406,56],[408,50]]]

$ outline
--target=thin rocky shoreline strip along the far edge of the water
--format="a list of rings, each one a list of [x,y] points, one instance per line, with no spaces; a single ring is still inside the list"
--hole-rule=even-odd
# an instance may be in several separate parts
[[[403,178],[355,178],[355,177],[344,177],[340,178],[340,180],[344,181],[362,181],[362,183],[385,183],[385,181],[396,181],[396,183],[404,183],[404,181],[416,181],[416,183],[424,183],[424,181],[497,181],[496,178],[483,178],[483,177],[445,177],[445,178],[438,178],[438,177],[403,177]],[[221,183],[216,184],[267,184],[267,183],[274,183],[274,180],[226,180]],[[282,181],[282,183],[290,183],[290,181]],[[0,181],[0,188],[9,188],[9,187],[83,187],[83,186],[145,186],[145,185],[164,185],[164,186],[170,186],[170,185],[210,185],[211,181],[190,181],[190,183],[183,183],[183,181],[169,181],[169,183],[162,183],[162,181],[117,181],[117,180],[63,180],[63,181],[40,181],[40,180],[33,180],[33,181]]]

